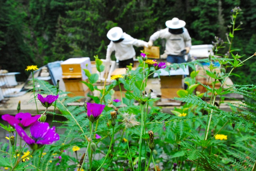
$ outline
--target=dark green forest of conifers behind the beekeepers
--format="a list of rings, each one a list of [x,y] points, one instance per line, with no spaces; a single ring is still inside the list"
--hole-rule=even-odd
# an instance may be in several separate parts
[[[233,48],[249,57],[256,51],[255,0],[0,0],[0,69],[21,72],[17,80],[24,81],[28,65],[41,67],[74,57],[94,60],[94,55],[105,59],[110,28],[120,26],[148,41],[173,17],[186,22],[192,45],[212,44],[214,36],[226,41],[231,9],[238,6],[243,14],[236,23],[243,22],[244,29],[235,32]],[[163,52],[163,40],[154,45]],[[255,83],[255,66],[253,58],[236,71],[241,77],[231,79]]]

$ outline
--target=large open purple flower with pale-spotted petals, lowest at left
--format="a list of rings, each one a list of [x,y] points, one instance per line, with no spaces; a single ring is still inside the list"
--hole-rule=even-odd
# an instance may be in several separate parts
[[[52,144],[59,140],[59,135],[55,132],[55,127],[50,128],[47,122],[36,121],[31,127],[31,137],[17,124],[14,124],[17,133],[32,148],[38,149],[45,144]]]

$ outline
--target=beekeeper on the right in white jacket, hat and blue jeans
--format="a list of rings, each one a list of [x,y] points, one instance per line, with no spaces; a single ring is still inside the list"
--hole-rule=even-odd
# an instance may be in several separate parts
[[[191,47],[191,37],[184,27],[186,23],[178,18],[173,18],[165,22],[167,28],[155,32],[149,38],[148,46],[151,47],[153,42],[158,38],[166,39],[164,54],[167,55],[167,62],[183,63],[185,54],[188,54]]]

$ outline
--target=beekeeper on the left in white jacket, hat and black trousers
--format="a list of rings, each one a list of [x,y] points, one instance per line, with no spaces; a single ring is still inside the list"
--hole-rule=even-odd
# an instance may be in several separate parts
[[[118,60],[119,68],[125,68],[130,63],[134,63],[133,58],[136,53],[133,46],[148,47],[148,43],[142,40],[134,39],[129,34],[123,32],[120,27],[111,28],[107,37],[111,42],[107,48],[106,60],[110,61],[110,56],[115,51],[116,59]]]

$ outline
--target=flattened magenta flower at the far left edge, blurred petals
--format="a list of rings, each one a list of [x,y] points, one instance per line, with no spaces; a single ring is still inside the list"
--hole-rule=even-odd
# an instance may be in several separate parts
[[[2,119],[7,121],[12,127],[14,127],[14,124],[17,124],[25,128],[31,126],[40,116],[41,115],[31,116],[30,113],[17,113],[15,116],[5,114],[2,116]]]

